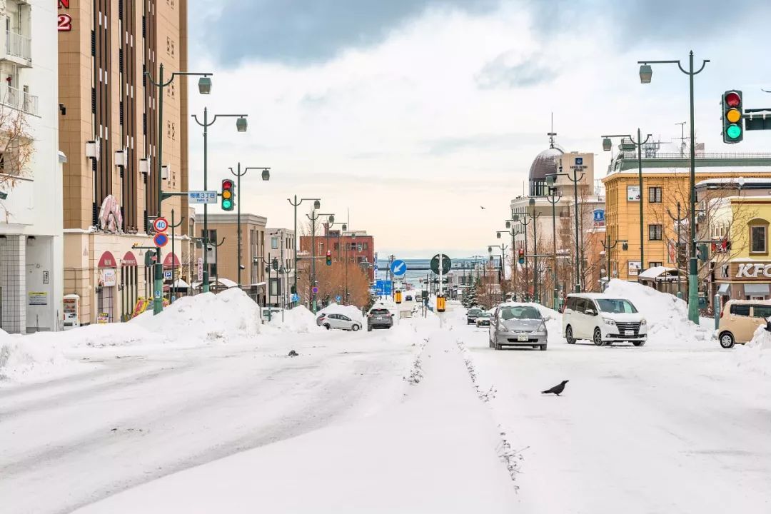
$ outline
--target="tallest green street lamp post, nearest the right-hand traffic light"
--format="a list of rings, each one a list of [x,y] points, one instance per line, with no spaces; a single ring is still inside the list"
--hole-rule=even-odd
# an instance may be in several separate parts
[[[698,260],[696,259],[696,145],[694,129],[694,108],[693,108],[693,77],[699,75],[707,66],[709,59],[704,59],[702,67],[694,71],[693,69],[693,51],[689,53],[689,69],[685,70],[679,60],[674,61],[638,61],[640,65],[640,82],[643,84],[651,83],[653,70],[651,64],[676,64],[681,72],[689,78],[689,92],[691,102],[691,194],[690,194],[690,257],[688,270],[688,317],[694,323],[699,323],[699,277]]]

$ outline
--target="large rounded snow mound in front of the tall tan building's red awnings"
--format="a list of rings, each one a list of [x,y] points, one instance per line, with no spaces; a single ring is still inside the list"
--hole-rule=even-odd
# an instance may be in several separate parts
[[[167,341],[227,342],[260,333],[260,307],[244,291],[231,287],[220,294],[180,298],[157,316],[145,312],[128,324],[163,334]]]

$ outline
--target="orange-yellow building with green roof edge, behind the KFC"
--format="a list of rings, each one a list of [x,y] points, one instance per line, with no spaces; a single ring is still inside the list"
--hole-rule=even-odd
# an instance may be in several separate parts
[[[633,145],[632,145],[633,147]],[[689,245],[688,219],[690,164],[681,153],[644,153],[642,191],[638,175],[637,153],[627,142],[613,160],[605,186],[606,237],[628,241],[609,250],[611,277],[637,280],[641,270],[654,266],[673,267],[687,274]],[[697,153],[696,182],[707,179],[739,180],[771,178],[771,153],[741,154]],[[645,262],[640,259],[640,202],[642,202],[642,241]],[[680,245],[678,246],[678,204]],[[698,225],[697,225],[698,227]]]

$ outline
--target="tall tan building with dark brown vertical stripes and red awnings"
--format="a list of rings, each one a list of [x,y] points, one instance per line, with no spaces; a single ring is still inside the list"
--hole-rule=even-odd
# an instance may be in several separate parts
[[[40,31],[45,32],[45,31]],[[186,197],[157,209],[159,136],[163,191],[187,190],[187,79],[163,90],[163,63],[187,69],[186,0],[59,0],[60,148],[64,166],[64,289],[76,294],[81,324],[120,321],[137,297],[152,294],[148,221],[172,210],[187,234]],[[183,244],[163,248],[164,264],[180,276]],[[190,267],[187,267],[190,270]],[[174,273],[176,272],[176,274]],[[167,294],[171,280],[164,286]]]

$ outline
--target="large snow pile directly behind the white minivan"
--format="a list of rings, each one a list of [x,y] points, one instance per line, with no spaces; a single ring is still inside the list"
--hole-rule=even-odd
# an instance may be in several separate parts
[[[712,331],[689,321],[688,304],[673,294],[618,279],[611,280],[605,294],[635,304],[648,321],[648,340],[655,341],[657,346],[703,346],[712,339]]]

